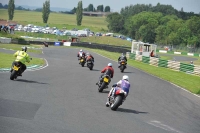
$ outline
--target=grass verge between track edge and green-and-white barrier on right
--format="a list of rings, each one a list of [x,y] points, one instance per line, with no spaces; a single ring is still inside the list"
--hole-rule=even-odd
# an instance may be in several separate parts
[[[104,55],[116,61],[117,61],[117,57],[120,55],[120,53],[107,52],[104,50],[89,49],[89,48],[84,48],[84,49],[91,50],[95,53],[99,53],[101,55]],[[138,62],[131,59],[128,60],[128,65],[138,68],[142,71],[145,71],[149,74],[157,76],[171,83],[174,83],[180,87],[183,87],[189,90],[192,93],[200,94],[200,77],[198,76],[189,75],[183,72],[177,72],[177,71],[173,71],[171,69],[166,69],[162,67],[146,65],[142,62]]]

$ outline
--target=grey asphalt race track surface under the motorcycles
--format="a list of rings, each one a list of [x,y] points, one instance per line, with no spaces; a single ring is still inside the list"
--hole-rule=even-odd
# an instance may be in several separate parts
[[[78,64],[78,49],[43,51],[45,69],[26,71],[15,81],[10,73],[0,73],[0,133],[200,132],[199,97],[128,67],[129,96],[111,111],[105,106],[109,89],[99,93],[95,83],[109,62],[115,69],[111,84],[120,80],[124,74],[116,62],[91,52],[95,66],[90,71]]]

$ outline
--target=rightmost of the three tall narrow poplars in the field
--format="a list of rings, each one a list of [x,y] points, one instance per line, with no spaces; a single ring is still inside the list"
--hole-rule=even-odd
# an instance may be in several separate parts
[[[79,1],[77,9],[76,9],[76,23],[77,23],[77,25],[81,25],[82,18],[83,18],[83,4],[82,4],[82,1]]]

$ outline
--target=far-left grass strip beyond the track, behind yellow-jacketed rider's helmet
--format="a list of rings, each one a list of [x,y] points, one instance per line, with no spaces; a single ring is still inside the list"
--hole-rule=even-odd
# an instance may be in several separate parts
[[[21,50],[22,46],[28,47],[28,50],[27,50],[28,53],[36,53],[36,54],[42,53],[41,49],[32,49],[32,48],[41,48],[41,46],[37,46],[37,45],[0,44],[0,48],[13,49],[16,51]]]

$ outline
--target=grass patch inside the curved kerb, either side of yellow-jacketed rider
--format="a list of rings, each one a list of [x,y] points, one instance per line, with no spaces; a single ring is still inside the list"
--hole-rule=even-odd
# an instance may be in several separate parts
[[[30,63],[26,63],[27,66],[30,65],[43,65],[45,61],[40,58],[34,58]],[[0,68],[10,68],[15,57],[12,54],[0,53]]]

